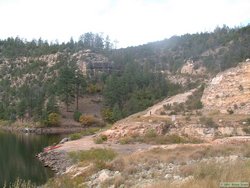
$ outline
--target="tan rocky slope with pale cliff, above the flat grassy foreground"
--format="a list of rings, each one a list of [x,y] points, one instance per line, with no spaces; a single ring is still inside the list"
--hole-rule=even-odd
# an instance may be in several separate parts
[[[168,97],[102,134],[110,141],[128,143],[147,134],[160,135],[159,143],[166,135],[212,140],[249,134],[249,65],[248,60],[240,63],[219,73],[205,89],[200,86]]]

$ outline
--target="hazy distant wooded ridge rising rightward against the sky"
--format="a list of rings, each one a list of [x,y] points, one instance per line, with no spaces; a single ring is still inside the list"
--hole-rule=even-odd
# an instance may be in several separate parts
[[[117,60],[136,59],[155,70],[176,71],[188,60],[202,62],[218,73],[250,56],[250,25],[242,28],[217,27],[213,32],[173,36],[158,42],[117,51]]]

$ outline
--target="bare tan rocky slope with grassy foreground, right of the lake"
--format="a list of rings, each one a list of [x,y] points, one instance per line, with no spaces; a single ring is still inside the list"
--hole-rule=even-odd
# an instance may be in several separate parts
[[[59,174],[46,186],[210,188],[224,181],[248,186],[248,73],[249,62],[239,63],[205,88],[165,98],[107,130],[40,153]],[[223,110],[242,101],[246,104],[234,113]]]

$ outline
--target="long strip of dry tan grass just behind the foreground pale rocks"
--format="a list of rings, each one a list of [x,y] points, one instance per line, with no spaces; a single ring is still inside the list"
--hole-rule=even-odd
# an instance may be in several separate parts
[[[179,146],[173,149],[155,148],[149,151],[134,153],[128,156],[120,156],[109,164],[111,170],[118,170],[128,174],[136,172],[137,164],[146,164],[150,168],[155,163],[178,163],[185,165],[190,160],[204,158],[239,155],[250,157],[250,144],[227,144],[216,146]],[[189,168],[189,169],[188,169]],[[183,168],[183,174],[191,175],[193,167]],[[194,167],[197,169],[197,167]]]

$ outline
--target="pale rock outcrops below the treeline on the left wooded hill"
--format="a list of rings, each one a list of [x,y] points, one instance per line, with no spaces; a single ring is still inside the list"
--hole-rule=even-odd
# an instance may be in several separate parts
[[[9,73],[15,67],[18,70],[25,69],[31,63],[39,62],[37,69],[46,66],[50,68],[55,66],[60,61],[60,56],[66,52],[57,52],[55,54],[42,55],[38,57],[18,57],[15,59],[0,59],[0,72],[3,71],[4,78],[10,77]],[[74,59],[77,62],[79,69],[84,75],[94,75],[98,72],[110,72],[113,68],[113,62],[110,62],[107,57],[102,54],[91,52],[91,50],[81,50],[74,54],[70,54],[70,60]],[[40,66],[40,68],[39,68]],[[43,73],[44,74],[44,73]],[[29,72],[29,74],[21,75],[15,81],[15,85],[22,85],[28,78],[32,76],[37,79],[37,74]],[[45,77],[50,77],[45,73]]]

